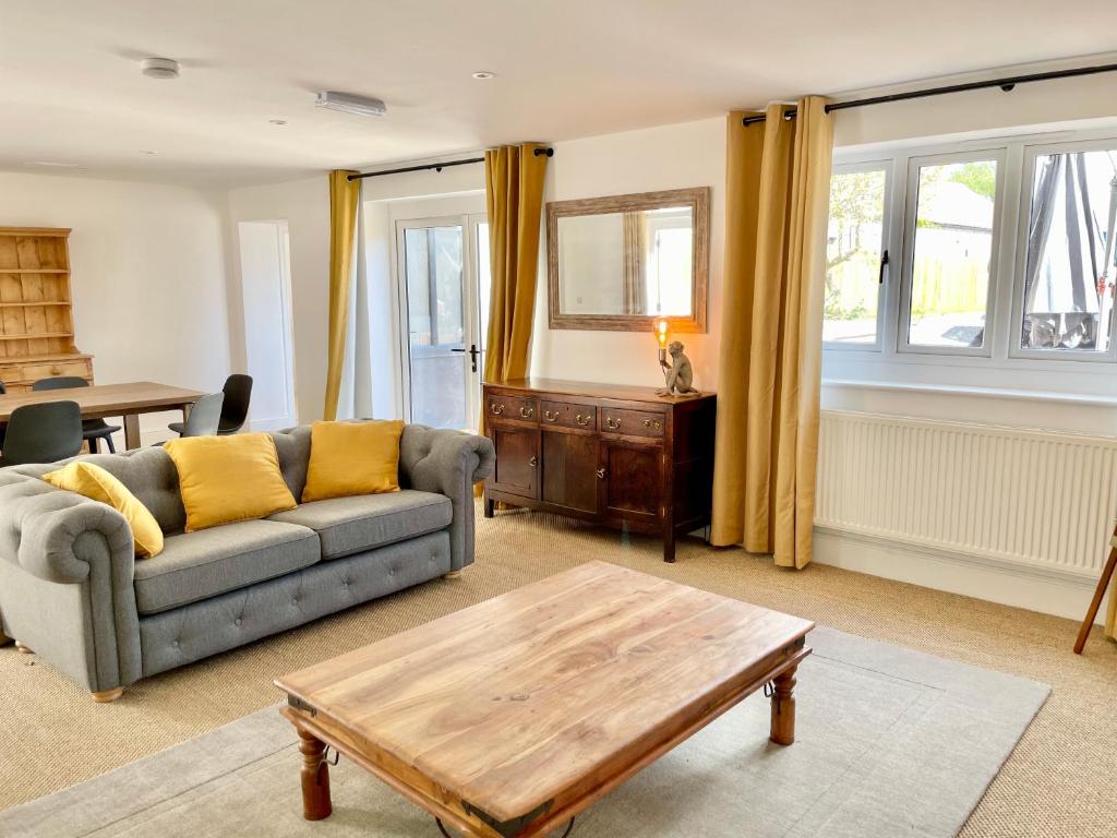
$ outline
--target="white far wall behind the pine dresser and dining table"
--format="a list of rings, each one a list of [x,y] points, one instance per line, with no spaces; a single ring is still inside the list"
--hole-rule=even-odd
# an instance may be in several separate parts
[[[217,391],[230,371],[223,203],[183,187],[0,172],[0,222],[69,227],[75,341],[97,383]],[[141,418],[165,438],[179,415]],[[123,442],[123,439],[117,440]]]

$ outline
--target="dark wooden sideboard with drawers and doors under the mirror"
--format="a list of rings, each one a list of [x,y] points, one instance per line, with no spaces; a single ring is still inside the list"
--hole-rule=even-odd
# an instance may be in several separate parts
[[[660,397],[652,388],[522,379],[486,383],[485,435],[496,502],[675,539],[709,524],[713,394]]]

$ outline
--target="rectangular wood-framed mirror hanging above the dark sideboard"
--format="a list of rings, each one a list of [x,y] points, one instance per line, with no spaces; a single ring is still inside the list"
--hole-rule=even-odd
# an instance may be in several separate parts
[[[706,331],[709,187],[547,203],[552,328]]]

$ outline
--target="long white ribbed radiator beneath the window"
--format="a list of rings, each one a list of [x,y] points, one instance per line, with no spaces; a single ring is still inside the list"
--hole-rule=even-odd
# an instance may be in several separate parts
[[[823,411],[815,525],[1096,580],[1117,438]]]

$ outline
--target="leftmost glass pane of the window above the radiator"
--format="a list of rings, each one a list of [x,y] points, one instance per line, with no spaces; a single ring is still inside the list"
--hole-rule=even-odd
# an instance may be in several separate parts
[[[885,183],[882,169],[830,179],[824,341],[877,342]]]

